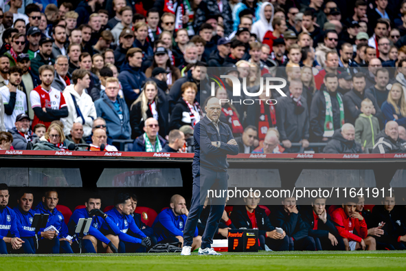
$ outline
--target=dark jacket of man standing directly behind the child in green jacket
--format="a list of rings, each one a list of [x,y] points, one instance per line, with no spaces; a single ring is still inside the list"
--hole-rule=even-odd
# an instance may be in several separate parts
[[[344,113],[346,116],[346,122],[350,122],[351,124],[355,124],[355,120],[361,114],[361,102],[365,99],[369,98],[372,100],[372,104],[375,107],[376,113],[374,116],[378,118],[380,123],[383,123],[383,116],[381,108],[378,106],[376,99],[372,96],[369,92],[363,91],[363,94],[359,94],[358,91],[352,89],[352,91],[348,91],[346,95],[343,96],[344,102]],[[357,109],[358,107],[358,109]]]

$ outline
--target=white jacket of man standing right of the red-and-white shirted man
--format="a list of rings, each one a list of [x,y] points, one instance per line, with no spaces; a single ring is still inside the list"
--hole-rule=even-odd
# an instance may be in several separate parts
[[[82,113],[82,116],[79,116],[78,111],[76,111],[74,99],[72,98],[72,96],[75,97],[76,103],[80,108],[80,113]],[[67,118],[60,119],[65,125],[63,129],[65,135],[69,135],[69,133],[71,133],[71,128],[75,122],[80,122],[83,125],[83,138],[91,135],[93,120],[98,117],[94,102],[93,100],[91,100],[91,96],[89,96],[89,94],[86,94],[84,90],[82,92],[82,96],[79,96],[78,92],[76,92],[76,90],[74,89],[74,84],[71,84],[67,86],[63,91],[63,97],[65,98],[65,102],[69,111],[69,116],[67,116]]]

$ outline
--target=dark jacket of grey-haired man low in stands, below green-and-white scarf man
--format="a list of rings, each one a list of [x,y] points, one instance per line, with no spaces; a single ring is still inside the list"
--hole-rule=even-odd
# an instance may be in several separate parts
[[[361,144],[354,140],[346,140],[341,135],[341,129],[337,129],[332,135],[326,147],[324,147],[324,153],[363,153]]]

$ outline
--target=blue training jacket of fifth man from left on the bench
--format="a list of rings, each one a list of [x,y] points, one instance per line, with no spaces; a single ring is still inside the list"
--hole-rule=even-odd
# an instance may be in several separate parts
[[[122,215],[118,213],[116,208],[107,211],[106,214],[109,215],[111,220],[113,220],[113,222],[119,228],[120,234],[118,235],[118,237],[120,238],[120,240],[128,243],[141,243],[141,239],[132,237],[131,235],[127,235],[128,229],[130,229],[132,232],[135,233],[135,235],[138,235],[141,238],[146,237],[146,235],[144,235],[144,232],[139,230],[137,224],[135,224],[134,218],[131,215]],[[111,232],[111,230],[107,228],[106,224],[103,225],[102,229]],[[114,235],[117,235],[117,233],[114,233]]]

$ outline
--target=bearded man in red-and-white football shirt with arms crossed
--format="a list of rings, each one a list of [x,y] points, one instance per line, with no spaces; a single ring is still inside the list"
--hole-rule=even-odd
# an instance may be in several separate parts
[[[54,82],[54,67],[43,65],[38,69],[38,74],[42,84],[30,92],[31,106],[34,110],[32,127],[42,123],[48,129],[52,121],[66,118],[69,111],[62,92],[51,87]]]

